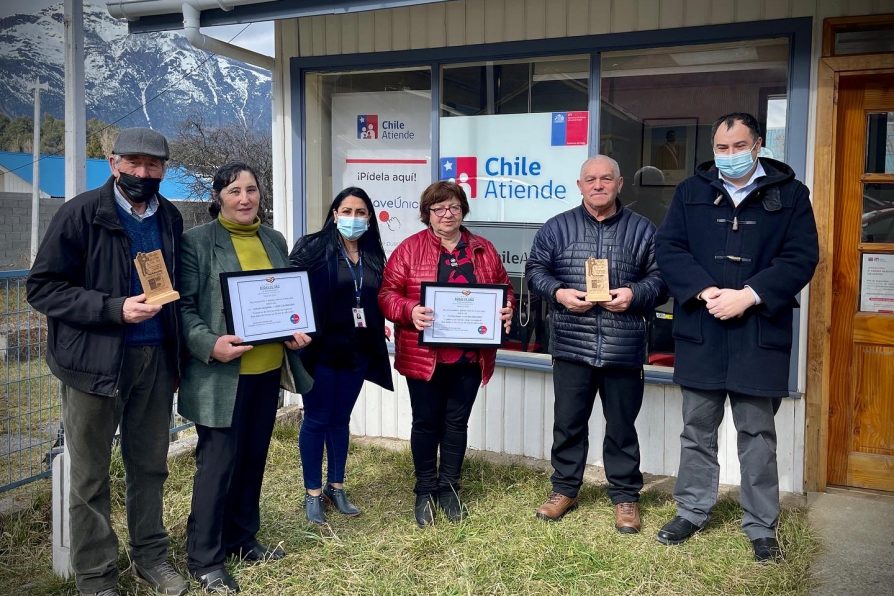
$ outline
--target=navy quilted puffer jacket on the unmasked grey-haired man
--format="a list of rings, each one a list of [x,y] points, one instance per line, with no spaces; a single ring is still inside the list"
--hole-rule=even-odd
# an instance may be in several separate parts
[[[607,258],[611,288],[627,287],[623,313],[594,306],[574,314],[556,302],[560,288],[586,289],[588,257]],[[590,366],[640,367],[645,361],[646,315],[667,298],[655,262],[655,225],[624,208],[602,221],[583,204],[548,220],[534,237],[525,267],[528,287],[550,301],[550,352]]]

